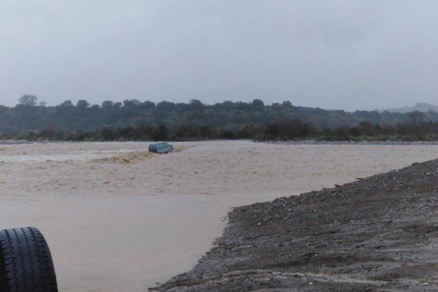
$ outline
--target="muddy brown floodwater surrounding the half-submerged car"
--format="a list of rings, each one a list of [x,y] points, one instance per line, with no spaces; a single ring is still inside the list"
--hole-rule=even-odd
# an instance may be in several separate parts
[[[0,145],[0,222],[36,226],[60,291],[144,291],[191,269],[235,206],[438,157],[432,145]]]

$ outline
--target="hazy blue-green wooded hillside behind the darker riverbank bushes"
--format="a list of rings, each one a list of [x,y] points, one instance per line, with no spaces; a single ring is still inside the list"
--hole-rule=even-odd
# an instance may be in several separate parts
[[[99,132],[103,128],[127,128],[147,125],[176,127],[181,120],[190,120],[197,125],[212,125],[218,128],[238,131],[245,124],[270,124],[275,120],[295,119],[308,123],[317,129],[353,127],[363,121],[371,124],[396,125],[409,120],[406,114],[377,111],[344,112],[294,106],[289,101],[281,104],[264,105],[255,99],[247,102],[225,101],[205,105],[199,100],[189,103],[161,101],[157,104],[136,99],[121,102],[104,101],[101,105],[90,105],[79,100],[76,105],[70,100],[58,106],[37,105],[34,96],[20,98],[15,107],[0,105],[0,134],[25,134],[28,131],[57,129],[72,133]],[[425,121],[438,121],[433,111],[424,113]]]

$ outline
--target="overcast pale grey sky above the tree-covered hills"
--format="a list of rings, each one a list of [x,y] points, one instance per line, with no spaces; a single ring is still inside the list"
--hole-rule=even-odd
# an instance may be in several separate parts
[[[438,104],[437,0],[4,0],[0,104]]]

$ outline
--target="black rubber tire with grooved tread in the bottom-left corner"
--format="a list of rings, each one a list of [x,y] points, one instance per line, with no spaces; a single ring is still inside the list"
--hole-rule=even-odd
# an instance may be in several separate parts
[[[58,292],[49,246],[35,227],[0,230],[0,292]]]

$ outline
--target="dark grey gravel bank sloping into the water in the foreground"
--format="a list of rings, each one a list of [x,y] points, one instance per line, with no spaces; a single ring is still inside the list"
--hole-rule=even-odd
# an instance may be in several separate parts
[[[152,291],[437,291],[438,160],[234,209],[190,272]]]

